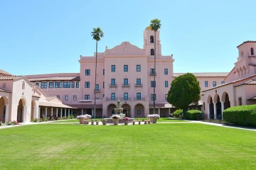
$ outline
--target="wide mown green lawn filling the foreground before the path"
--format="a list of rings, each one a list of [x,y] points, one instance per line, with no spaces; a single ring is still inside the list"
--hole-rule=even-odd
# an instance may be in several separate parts
[[[255,169],[256,132],[199,123],[0,129],[0,169]]]

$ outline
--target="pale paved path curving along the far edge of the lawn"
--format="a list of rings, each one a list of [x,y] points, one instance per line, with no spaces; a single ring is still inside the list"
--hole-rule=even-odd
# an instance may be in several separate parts
[[[61,122],[58,122],[61,121]],[[41,123],[20,123],[18,125],[6,125],[6,126],[0,126],[0,129],[4,128],[14,128],[14,127],[19,127],[22,125],[36,125],[36,124],[43,124],[43,123],[50,123],[50,124],[73,124],[73,125],[83,125],[80,123],[65,123],[63,120],[55,120],[55,121],[48,121],[48,122],[41,122]],[[224,125],[224,124],[218,124],[218,123],[207,123],[207,122],[201,122],[201,121],[184,121],[184,122],[157,122],[160,124],[177,124],[177,123],[202,123],[205,125],[215,125],[215,126],[221,126],[223,128],[235,128],[235,129],[241,129],[241,130],[252,130],[256,132],[256,128],[247,128],[247,127],[239,127],[239,126],[234,126],[234,125]],[[150,123],[151,125],[153,123]],[[102,125],[102,122],[99,123],[99,125]],[[113,125],[113,123],[107,123],[107,125]],[[124,125],[123,123],[120,123],[119,125]],[[132,125],[132,123],[129,123],[128,125]],[[139,125],[138,122],[135,123],[135,125]],[[145,125],[143,122],[141,122],[140,125]],[[148,124],[146,124],[148,125]],[[97,126],[97,125],[96,125]]]

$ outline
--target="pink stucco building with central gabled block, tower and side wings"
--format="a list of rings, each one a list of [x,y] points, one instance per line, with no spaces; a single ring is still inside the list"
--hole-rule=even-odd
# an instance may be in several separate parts
[[[156,41],[156,70],[154,70],[154,41]],[[132,118],[144,117],[153,113],[154,74],[156,74],[156,113],[168,116],[169,113],[172,113],[176,109],[166,101],[166,95],[168,94],[171,81],[184,73],[174,73],[173,55],[161,55],[159,31],[156,32],[156,37],[154,37],[154,31],[147,27],[144,30],[143,43],[142,49],[132,45],[130,42],[122,42],[120,45],[112,48],[106,47],[105,52],[98,52],[96,89],[95,55],[80,56],[80,60],[78,61],[80,62],[79,73],[37,74],[18,78],[29,84],[26,86],[31,86],[28,88],[28,92],[26,92],[28,95],[26,96],[26,103],[28,103],[26,107],[32,109],[32,106],[36,106],[36,108],[33,108],[36,114],[31,114],[30,117],[26,116],[23,120],[28,121],[30,118],[36,118],[38,113],[48,115],[56,115],[57,113],[60,115],[62,113],[61,115],[63,116],[71,113],[75,115],[85,113],[92,115],[94,114],[94,89],[96,90],[97,117],[109,117],[112,115],[118,100],[121,101],[122,108],[124,108],[124,113],[127,116]],[[209,113],[206,111],[208,108],[205,105],[209,103],[209,109],[215,107],[215,105],[210,103],[215,102],[215,89],[223,88],[225,84],[232,85],[230,81],[244,78],[249,80],[250,78],[246,77],[254,77],[253,75],[256,73],[256,67],[254,67],[256,64],[255,56],[249,55],[250,57],[248,57],[247,52],[250,52],[250,50],[247,51],[249,46],[247,47],[246,45],[253,46],[255,42],[245,42],[240,45],[239,49],[243,51],[243,57],[239,57],[238,67],[235,67],[230,73],[193,73],[200,83],[202,93],[201,101],[199,101],[198,105],[190,107]],[[6,82],[6,78],[4,77],[12,77],[12,75],[2,74],[0,85]],[[10,81],[10,84],[14,84],[14,81]],[[225,88],[229,86],[225,86]],[[249,96],[256,96],[255,90],[253,90],[255,86],[251,86],[249,89],[247,86],[241,86],[236,89],[244,87],[246,89],[245,91],[249,91]],[[4,119],[6,106],[9,105],[9,108],[13,104],[15,107],[17,106],[17,103],[10,103],[11,101],[7,99],[11,98],[9,95],[21,93],[21,89],[18,88],[6,89],[6,87],[0,86],[0,118],[3,117],[1,120]],[[230,88],[234,89],[233,87]],[[228,92],[228,90],[225,91]],[[245,97],[242,97],[242,100],[249,97],[245,91],[241,92],[239,90],[241,95],[245,95]],[[236,106],[238,104],[233,102],[235,101],[233,94],[234,92],[228,92],[230,97],[228,100],[231,106]],[[221,96],[223,94],[219,95]],[[208,96],[212,96],[213,99],[208,99]],[[237,98],[237,96],[234,98]],[[49,101],[50,99],[53,101]],[[18,100],[21,100],[21,95],[19,94],[17,102]],[[218,97],[216,100],[218,101]],[[41,102],[35,105],[36,101]],[[50,106],[49,102],[57,104],[53,107],[53,105]],[[253,102],[246,101],[242,104]],[[24,108],[23,99],[20,103],[23,103],[21,105]],[[57,106],[58,104],[60,106]],[[202,106],[204,107],[202,108]],[[217,106],[218,104],[216,104]],[[9,111],[11,119],[16,118],[15,107],[13,108],[14,110]],[[24,113],[28,114],[28,111],[30,110],[26,109]],[[215,111],[215,115],[217,115],[217,109]]]

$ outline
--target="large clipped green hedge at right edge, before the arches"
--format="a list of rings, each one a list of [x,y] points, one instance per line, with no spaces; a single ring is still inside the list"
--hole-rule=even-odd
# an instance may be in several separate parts
[[[235,125],[256,126],[256,105],[227,108],[223,111],[223,120]]]

